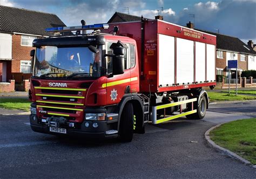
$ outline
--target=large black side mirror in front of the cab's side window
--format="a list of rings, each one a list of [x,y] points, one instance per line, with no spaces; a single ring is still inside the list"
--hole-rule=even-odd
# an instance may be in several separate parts
[[[124,73],[124,47],[114,47],[113,49],[113,75]]]

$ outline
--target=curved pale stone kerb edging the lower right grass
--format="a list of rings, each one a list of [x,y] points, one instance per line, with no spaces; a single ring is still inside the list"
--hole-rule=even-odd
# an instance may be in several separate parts
[[[227,123],[227,122],[224,122],[224,123]],[[251,164],[250,161],[248,161],[248,160],[246,160],[246,159],[240,157],[239,155],[237,155],[237,154],[231,152],[231,151],[228,150],[228,149],[225,149],[225,148],[223,148],[223,147],[218,146],[217,144],[215,144],[215,143],[210,139],[210,132],[211,132],[213,129],[215,129],[215,128],[221,126],[221,125],[223,125],[224,123],[220,123],[220,124],[218,124],[217,126],[213,126],[213,127],[211,127],[210,129],[208,129],[208,130],[205,132],[205,139],[207,140],[208,144],[210,144],[211,147],[213,147],[214,149],[218,150],[219,152],[224,153],[225,155],[228,155],[228,156],[232,157],[233,159],[239,160],[239,161],[241,161],[242,163],[244,163],[244,164],[246,164],[246,165],[252,166],[252,164]],[[252,167],[253,167],[253,168],[256,168],[256,166],[252,166]]]

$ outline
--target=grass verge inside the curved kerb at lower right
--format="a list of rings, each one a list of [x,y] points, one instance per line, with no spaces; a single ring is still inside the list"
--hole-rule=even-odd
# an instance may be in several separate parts
[[[256,118],[225,123],[210,133],[211,140],[256,164]]]

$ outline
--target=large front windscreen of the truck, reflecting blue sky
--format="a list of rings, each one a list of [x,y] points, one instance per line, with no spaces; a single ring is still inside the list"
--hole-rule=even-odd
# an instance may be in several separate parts
[[[94,53],[88,47],[42,46],[36,49],[34,77],[100,77],[101,47]]]

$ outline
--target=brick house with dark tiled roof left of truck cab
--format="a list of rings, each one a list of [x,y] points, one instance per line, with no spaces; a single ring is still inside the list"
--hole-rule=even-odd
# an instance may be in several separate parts
[[[0,82],[30,74],[32,42],[51,36],[47,27],[65,26],[56,15],[0,5]],[[0,88],[1,89],[1,88]],[[0,90],[1,91],[1,90]]]

